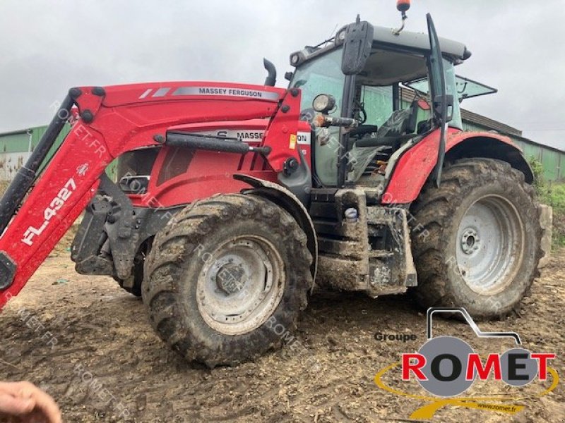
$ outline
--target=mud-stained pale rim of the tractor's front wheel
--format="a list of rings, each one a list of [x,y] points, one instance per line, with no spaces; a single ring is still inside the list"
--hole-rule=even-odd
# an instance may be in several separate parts
[[[200,256],[198,309],[226,335],[254,331],[275,312],[285,291],[284,262],[265,238],[244,235]]]

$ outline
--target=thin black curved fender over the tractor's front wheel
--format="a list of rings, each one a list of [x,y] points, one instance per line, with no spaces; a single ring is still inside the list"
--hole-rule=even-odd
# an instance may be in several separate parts
[[[244,183],[248,183],[253,190],[244,190],[244,192],[249,194],[258,195],[266,200],[270,200],[280,207],[283,207],[287,212],[289,212],[298,222],[302,231],[306,233],[308,238],[307,247],[312,255],[312,265],[310,271],[312,274],[312,281],[316,281],[316,274],[318,273],[318,238],[316,238],[316,230],[314,229],[314,222],[310,218],[310,215],[296,195],[292,194],[289,190],[283,186],[270,182],[268,180],[255,178],[254,176],[243,175],[242,173],[237,173],[234,175],[234,179],[241,180]],[[314,284],[312,285],[314,288]]]

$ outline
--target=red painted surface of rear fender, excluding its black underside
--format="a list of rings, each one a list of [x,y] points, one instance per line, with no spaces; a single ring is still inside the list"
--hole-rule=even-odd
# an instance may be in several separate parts
[[[439,129],[435,130],[400,157],[383,194],[383,204],[409,204],[417,199],[424,183],[436,166],[439,134]],[[519,150],[510,138],[504,135],[462,132],[458,129],[449,128],[446,139],[446,153],[472,137],[492,138]]]

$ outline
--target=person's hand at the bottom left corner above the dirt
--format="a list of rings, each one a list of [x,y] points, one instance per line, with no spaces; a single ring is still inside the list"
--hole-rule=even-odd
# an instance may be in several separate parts
[[[59,407],[30,382],[0,382],[0,422],[62,423]]]

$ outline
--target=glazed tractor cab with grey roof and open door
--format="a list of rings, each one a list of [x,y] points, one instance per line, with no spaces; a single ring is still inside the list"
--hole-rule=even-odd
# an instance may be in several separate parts
[[[333,39],[292,54],[290,87],[302,90],[302,118],[316,126],[315,185],[382,185],[387,165],[424,135],[444,124],[462,130],[465,94],[455,66],[470,55],[464,44],[438,39],[431,18],[428,35],[358,18]],[[326,99],[331,107],[315,110]],[[317,124],[317,114],[352,124]]]

